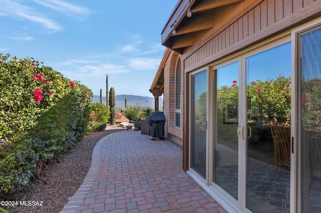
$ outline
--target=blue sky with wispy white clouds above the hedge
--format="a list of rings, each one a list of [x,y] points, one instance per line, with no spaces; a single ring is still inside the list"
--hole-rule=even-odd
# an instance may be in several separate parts
[[[152,96],[177,0],[1,0],[0,52],[33,57],[93,94]]]

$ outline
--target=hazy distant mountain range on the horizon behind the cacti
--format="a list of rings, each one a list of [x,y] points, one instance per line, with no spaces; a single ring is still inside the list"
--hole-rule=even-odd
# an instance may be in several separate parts
[[[141,107],[151,107],[154,108],[155,100],[153,97],[130,95],[130,94],[116,94],[116,108],[125,107],[125,97],[127,97],[127,105],[138,104]],[[94,95],[92,98],[93,102],[100,102],[100,95]],[[106,105],[106,97],[102,97],[103,104]],[[163,107],[163,97],[159,97],[160,109]]]

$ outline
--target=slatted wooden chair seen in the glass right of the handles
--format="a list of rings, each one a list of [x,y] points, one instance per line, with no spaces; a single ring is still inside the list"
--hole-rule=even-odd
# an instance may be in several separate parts
[[[277,181],[279,181],[282,167],[284,165],[290,167],[291,128],[281,125],[272,125],[271,132],[274,140],[273,165],[277,166],[274,171],[277,173]]]

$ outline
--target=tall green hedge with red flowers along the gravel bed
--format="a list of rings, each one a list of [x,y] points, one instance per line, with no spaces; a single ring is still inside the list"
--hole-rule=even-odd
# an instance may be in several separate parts
[[[0,200],[86,133],[92,92],[33,58],[0,54]]]

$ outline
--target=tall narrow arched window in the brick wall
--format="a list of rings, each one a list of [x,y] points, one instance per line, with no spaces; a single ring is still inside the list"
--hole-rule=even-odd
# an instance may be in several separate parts
[[[181,128],[181,58],[178,58],[175,71],[175,127]]]

